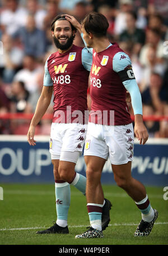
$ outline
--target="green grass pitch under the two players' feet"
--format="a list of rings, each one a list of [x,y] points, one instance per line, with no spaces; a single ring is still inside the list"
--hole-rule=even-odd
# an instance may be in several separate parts
[[[159,212],[156,224],[147,237],[134,237],[141,213],[133,200],[116,185],[103,185],[105,197],[113,207],[110,225],[103,239],[74,239],[89,226],[86,198],[71,188],[71,206],[68,213],[69,234],[38,235],[53,225],[56,219],[54,184],[0,184],[1,245],[167,245],[168,200],[162,187],[146,187],[153,208]]]

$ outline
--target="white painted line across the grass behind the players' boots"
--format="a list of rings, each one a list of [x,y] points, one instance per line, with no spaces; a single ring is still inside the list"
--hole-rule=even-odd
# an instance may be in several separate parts
[[[167,225],[168,222],[156,222],[155,225]],[[138,224],[135,223],[114,223],[114,224],[109,224],[109,226],[137,226]],[[68,227],[86,227],[87,225],[77,225],[77,226],[68,226]],[[32,230],[32,229],[45,229],[46,227],[18,227],[18,228],[13,228],[13,229],[0,229],[0,231],[15,231],[15,230]]]

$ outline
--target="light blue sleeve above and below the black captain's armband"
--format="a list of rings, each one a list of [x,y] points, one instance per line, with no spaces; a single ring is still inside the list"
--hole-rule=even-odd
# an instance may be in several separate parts
[[[113,70],[115,72],[123,71],[127,66],[132,65],[129,56],[126,53],[118,52],[113,58]],[[127,91],[129,91],[134,115],[142,115],[142,98],[141,92],[137,85],[136,79],[130,79],[123,82]]]

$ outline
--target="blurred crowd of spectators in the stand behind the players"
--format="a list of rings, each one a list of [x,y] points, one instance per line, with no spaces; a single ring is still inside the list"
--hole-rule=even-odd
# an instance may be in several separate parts
[[[0,134],[27,134],[29,119],[9,120],[1,115],[34,113],[46,58],[57,50],[50,30],[53,18],[68,13],[82,22],[92,11],[106,16],[109,40],[132,60],[143,115],[168,116],[167,0],[0,0]],[[78,32],[74,44],[84,47]],[[52,103],[47,113],[53,113]],[[50,134],[51,122],[41,120],[36,134]],[[151,138],[168,137],[168,120],[145,124]]]

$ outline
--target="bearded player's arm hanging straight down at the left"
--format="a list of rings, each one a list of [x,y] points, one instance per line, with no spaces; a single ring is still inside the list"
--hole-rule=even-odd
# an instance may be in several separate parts
[[[44,74],[44,82],[43,82],[43,90],[41,91],[41,95],[39,97],[38,103],[36,105],[34,116],[32,117],[29,131],[27,133],[27,141],[31,146],[36,145],[36,141],[34,140],[35,135],[35,128],[36,125],[40,122],[41,118],[45,114],[46,110],[48,109],[48,106],[50,104],[50,101],[52,99],[53,95],[53,81],[50,77],[49,71],[48,71],[48,60],[46,60],[45,63],[45,74]]]

